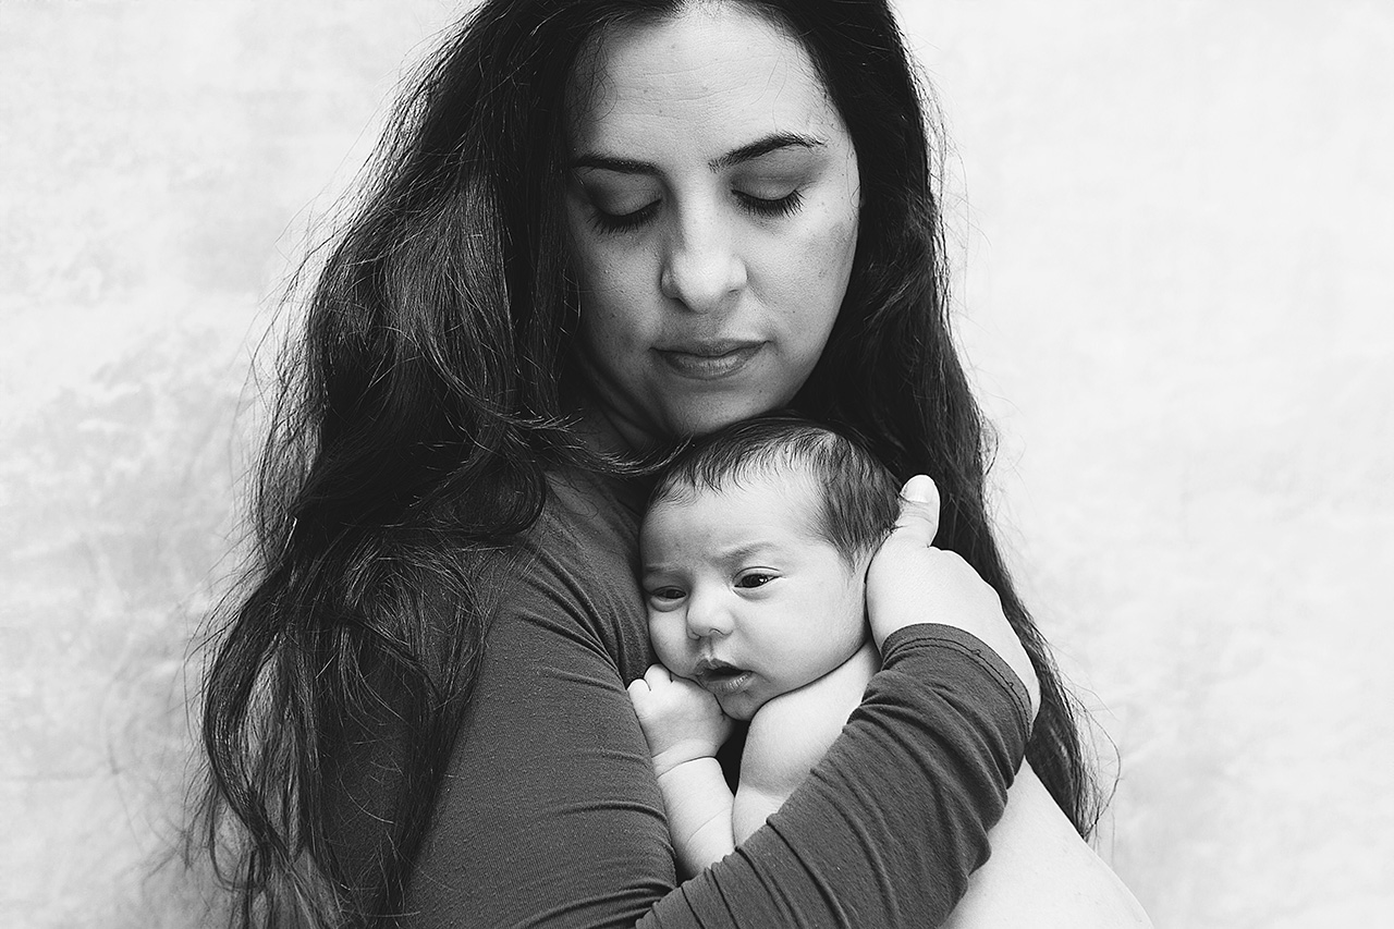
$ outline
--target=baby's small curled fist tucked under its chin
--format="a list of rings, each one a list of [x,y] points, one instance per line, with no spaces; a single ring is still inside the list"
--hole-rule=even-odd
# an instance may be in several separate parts
[[[659,776],[683,762],[715,756],[730,735],[730,718],[717,697],[661,664],[651,664],[629,685],[629,699]]]

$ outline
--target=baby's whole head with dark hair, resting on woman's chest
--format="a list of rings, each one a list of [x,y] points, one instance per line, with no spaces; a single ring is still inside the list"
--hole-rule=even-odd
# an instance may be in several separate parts
[[[793,417],[737,423],[684,452],[640,534],[659,660],[749,720],[850,658],[898,487],[859,444]]]

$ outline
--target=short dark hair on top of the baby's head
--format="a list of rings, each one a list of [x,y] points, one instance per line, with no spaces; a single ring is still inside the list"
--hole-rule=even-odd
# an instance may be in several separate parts
[[[822,501],[814,529],[848,562],[875,551],[899,516],[899,483],[860,441],[782,413],[736,423],[686,448],[648,505],[786,471],[802,471],[813,484]]]

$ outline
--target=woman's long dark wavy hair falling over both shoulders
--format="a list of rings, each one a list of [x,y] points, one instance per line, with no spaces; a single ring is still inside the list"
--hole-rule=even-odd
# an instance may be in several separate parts
[[[927,126],[894,17],[884,0],[739,1],[809,50],[861,177],[848,296],[796,406],[868,437],[899,478],[938,483],[940,544],[998,590],[1041,679],[1027,757],[1087,833],[1071,700],[986,515],[986,430],[949,332]],[[562,402],[577,307],[563,105],[597,29],[683,6],[484,3],[389,126],[286,356],[245,593],[206,678],[199,841],[237,890],[237,925],[392,921],[487,646],[491,569],[541,512],[546,469],[622,467],[585,449]],[[372,738],[397,750],[369,810],[383,837],[346,849],[335,760]]]

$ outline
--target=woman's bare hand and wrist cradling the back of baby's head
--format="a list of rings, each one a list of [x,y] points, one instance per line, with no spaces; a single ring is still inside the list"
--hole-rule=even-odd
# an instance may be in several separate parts
[[[940,491],[924,474],[901,488],[901,518],[867,569],[867,614],[880,649],[896,629],[941,622],[980,639],[1026,685],[1032,713],[1040,683],[1002,601],[956,552],[934,547],[940,527]]]

